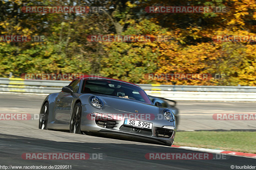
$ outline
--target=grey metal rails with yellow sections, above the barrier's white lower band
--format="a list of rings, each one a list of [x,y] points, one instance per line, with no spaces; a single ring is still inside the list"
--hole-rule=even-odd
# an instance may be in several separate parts
[[[15,89],[18,88],[18,89],[25,90],[25,92],[27,91],[26,89],[60,90],[61,88],[58,88],[58,87],[67,86],[69,83],[70,81],[59,81],[59,80],[23,80],[20,78],[0,78],[0,91],[2,91],[3,88],[4,89],[9,88],[10,90],[13,90],[13,88]],[[4,86],[4,85],[7,85],[7,86]],[[197,92],[256,92],[255,86],[191,86],[191,85],[161,85],[161,84],[137,84],[137,85],[139,85],[144,90],[197,91]],[[57,87],[57,88],[53,88],[53,87]],[[31,90],[29,90],[29,92],[31,92]]]

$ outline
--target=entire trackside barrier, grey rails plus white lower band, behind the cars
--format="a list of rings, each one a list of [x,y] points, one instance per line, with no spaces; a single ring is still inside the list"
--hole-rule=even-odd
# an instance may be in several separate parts
[[[0,78],[0,91],[23,93],[56,93],[71,81],[22,80]],[[254,86],[184,86],[138,84],[147,94],[172,100],[197,101],[256,101]]]

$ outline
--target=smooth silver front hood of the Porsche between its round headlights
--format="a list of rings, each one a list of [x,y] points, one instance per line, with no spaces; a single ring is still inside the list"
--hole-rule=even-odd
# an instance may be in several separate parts
[[[139,102],[136,100],[125,99],[122,97],[96,95],[99,96],[107,106],[116,110],[130,112],[135,114],[150,114],[157,117],[159,114],[159,107],[151,104]],[[137,111],[135,111],[137,110]]]

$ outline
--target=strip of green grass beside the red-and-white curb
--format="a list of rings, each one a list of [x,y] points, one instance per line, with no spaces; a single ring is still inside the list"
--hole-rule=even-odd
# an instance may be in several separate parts
[[[177,131],[173,145],[256,153],[256,132]]]

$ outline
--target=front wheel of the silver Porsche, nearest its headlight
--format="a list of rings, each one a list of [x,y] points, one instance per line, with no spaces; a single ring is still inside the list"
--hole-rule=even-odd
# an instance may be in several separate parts
[[[71,114],[70,118],[70,123],[69,123],[69,132],[70,133],[77,133],[77,134],[82,134],[81,133],[81,115],[82,115],[82,110],[81,110],[81,103],[76,103],[74,106],[74,109]]]

